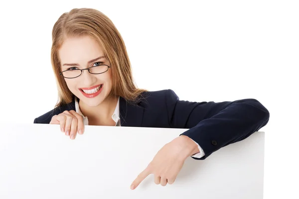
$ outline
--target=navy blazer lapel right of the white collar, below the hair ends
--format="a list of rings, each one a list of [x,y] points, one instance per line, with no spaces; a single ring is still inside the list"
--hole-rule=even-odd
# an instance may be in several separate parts
[[[144,107],[140,103],[133,105],[120,97],[121,126],[141,127],[143,121]]]

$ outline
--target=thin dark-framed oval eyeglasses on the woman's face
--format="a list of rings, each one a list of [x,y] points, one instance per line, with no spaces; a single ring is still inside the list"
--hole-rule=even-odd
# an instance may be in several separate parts
[[[75,68],[75,67],[72,67],[72,68]],[[60,75],[62,75],[64,78],[72,79],[72,78],[79,77],[84,70],[88,70],[89,73],[97,75],[97,74],[102,74],[102,73],[107,72],[109,68],[111,68],[111,67],[108,65],[92,66],[87,69],[71,69],[70,68],[66,71],[62,71],[60,73]]]

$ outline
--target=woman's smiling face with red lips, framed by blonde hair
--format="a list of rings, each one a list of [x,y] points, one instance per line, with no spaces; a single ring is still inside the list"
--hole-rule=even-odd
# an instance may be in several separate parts
[[[64,40],[59,49],[61,61],[61,71],[65,77],[73,77],[80,74],[74,69],[86,69],[92,66],[108,65],[109,61],[104,57],[102,47],[90,36],[72,37]],[[102,66],[101,66],[102,67]],[[98,69],[96,69],[98,68]],[[96,67],[92,73],[106,71],[107,68]],[[72,71],[73,70],[73,71]],[[64,78],[69,90],[89,106],[97,106],[102,103],[112,89],[111,68],[102,74],[91,74],[84,70],[79,77],[68,79]]]

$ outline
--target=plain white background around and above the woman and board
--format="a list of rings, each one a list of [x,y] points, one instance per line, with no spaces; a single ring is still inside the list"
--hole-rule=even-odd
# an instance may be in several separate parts
[[[72,8],[95,8],[123,36],[139,88],[172,89],[181,100],[264,104],[264,198],[298,198],[298,1],[26,0],[0,7],[1,122],[32,123],[53,108],[52,27]]]

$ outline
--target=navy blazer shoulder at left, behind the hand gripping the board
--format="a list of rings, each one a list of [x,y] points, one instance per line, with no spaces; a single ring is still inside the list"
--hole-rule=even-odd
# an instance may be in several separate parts
[[[59,107],[55,107],[52,110],[44,113],[43,115],[36,117],[34,119],[33,123],[49,124],[54,115],[58,115],[65,110],[69,111],[69,110],[75,110],[75,109],[76,108],[75,108],[74,102],[71,102],[71,103],[68,103],[68,104],[65,104],[65,105],[62,105]]]

